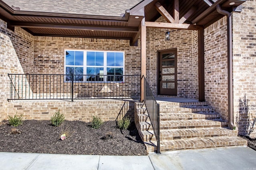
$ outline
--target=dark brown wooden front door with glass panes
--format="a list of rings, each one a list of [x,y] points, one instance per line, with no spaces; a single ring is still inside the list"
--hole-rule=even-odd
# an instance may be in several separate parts
[[[158,94],[177,96],[177,49],[158,54]]]

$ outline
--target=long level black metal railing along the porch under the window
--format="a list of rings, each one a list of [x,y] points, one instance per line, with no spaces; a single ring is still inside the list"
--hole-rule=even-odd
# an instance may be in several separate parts
[[[8,100],[140,98],[139,75],[8,74]]]

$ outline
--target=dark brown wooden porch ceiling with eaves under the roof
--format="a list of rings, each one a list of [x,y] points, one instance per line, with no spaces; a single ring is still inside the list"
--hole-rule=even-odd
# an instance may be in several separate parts
[[[161,16],[156,8],[157,3],[173,18],[177,17],[173,10],[174,1],[177,0],[144,0],[124,11],[124,16],[111,17],[22,11],[0,0],[0,18],[7,22],[8,28],[22,27],[35,36],[130,39],[134,43],[140,34],[144,16],[145,21],[150,22]],[[230,5],[230,2],[235,4]],[[184,22],[206,27],[223,17],[216,11],[218,4],[222,9],[232,12],[243,2],[245,0],[178,0],[178,20],[180,24]]]

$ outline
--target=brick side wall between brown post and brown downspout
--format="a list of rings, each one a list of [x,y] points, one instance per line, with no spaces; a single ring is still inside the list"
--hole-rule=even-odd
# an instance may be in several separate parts
[[[228,120],[226,17],[204,29],[205,100]]]

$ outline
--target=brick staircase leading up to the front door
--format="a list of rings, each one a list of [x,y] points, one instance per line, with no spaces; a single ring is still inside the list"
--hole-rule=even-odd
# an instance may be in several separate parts
[[[160,151],[247,145],[206,102],[159,102]],[[135,123],[148,152],[156,137],[143,103],[135,104]]]

